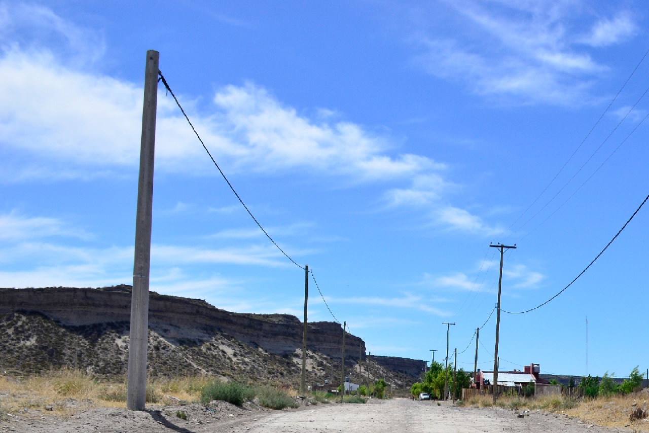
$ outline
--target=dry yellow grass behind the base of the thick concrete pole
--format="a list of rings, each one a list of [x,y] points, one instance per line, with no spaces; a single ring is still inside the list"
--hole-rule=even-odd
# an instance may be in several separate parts
[[[147,402],[194,402],[204,376],[156,379],[147,384]],[[27,378],[0,377],[0,415],[71,415],[91,407],[125,408],[125,380],[105,380],[75,369],[52,370]]]

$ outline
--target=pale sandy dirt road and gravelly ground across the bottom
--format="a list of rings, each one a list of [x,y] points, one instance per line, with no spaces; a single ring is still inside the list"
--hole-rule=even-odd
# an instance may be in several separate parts
[[[187,419],[177,417],[184,412]],[[461,408],[434,401],[393,399],[367,404],[318,404],[297,410],[273,411],[254,404],[242,408],[226,402],[211,406],[147,406],[131,412],[90,408],[71,416],[13,414],[0,421],[1,432],[181,432],[181,433],[474,433],[474,432],[632,432],[632,428],[604,428],[547,412],[518,412],[501,408]]]

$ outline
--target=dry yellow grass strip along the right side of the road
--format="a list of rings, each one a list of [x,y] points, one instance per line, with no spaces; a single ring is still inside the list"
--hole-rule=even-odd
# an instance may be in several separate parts
[[[491,395],[478,395],[465,402],[467,406],[493,406]],[[615,396],[600,399],[574,400],[559,396],[543,396],[538,399],[500,397],[496,406],[515,410],[545,410],[555,414],[582,419],[585,423],[606,427],[630,427],[636,432],[649,432],[649,417],[634,419],[641,412],[649,413],[649,395]]]

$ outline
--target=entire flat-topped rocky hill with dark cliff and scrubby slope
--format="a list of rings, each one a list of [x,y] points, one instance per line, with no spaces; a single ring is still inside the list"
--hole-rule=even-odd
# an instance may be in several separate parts
[[[0,369],[32,374],[66,366],[125,374],[130,286],[0,288],[0,299]],[[341,343],[338,323],[309,324],[309,383],[340,381]],[[151,293],[148,368],[153,377],[208,374],[296,385],[301,346],[302,323],[295,316],[231,313],[204,301]],[[349,333],[345,353],[345,375],[356,383],[385,377],[404,388],[425,367],[407,358],[368,358],[363,340]]]

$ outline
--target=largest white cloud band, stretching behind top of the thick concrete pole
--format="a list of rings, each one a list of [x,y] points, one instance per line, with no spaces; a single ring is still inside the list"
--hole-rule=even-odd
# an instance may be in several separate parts
[[[66,40],[80,38],[73,25],[57,21],[51,11],[39,11],[49,16],[48,31],[62,32]],[[7,14],[5,21],[15,27],[23,15]],[[14,36],[10,30],[5,35]],[[47,38],[38,42],[29,50],[21,44],[0,48],[0,150],[6,155],[0,158],[0,182],[133,176],[140,152],[139,86],[65,64]],[[173,77],[167,80],[173,87]],[[384,210],[420,208],[435,225],[484,236],[498,232],[480,216],[443,201],[457,188],[447,179],[445,164],[400,152],[400,140],[341,119],[335,110],[318,108],[307,116],[251,82],[219,88],[211,104],[200,109],[195,98],[178,96],[229,174],[308,173],[339,179],[348,187],[380,185],[386,188]],[[163,90],[156,128],[156,171],[217,175]],[[178,203],[173,212],[186,210],[186,204]]]

